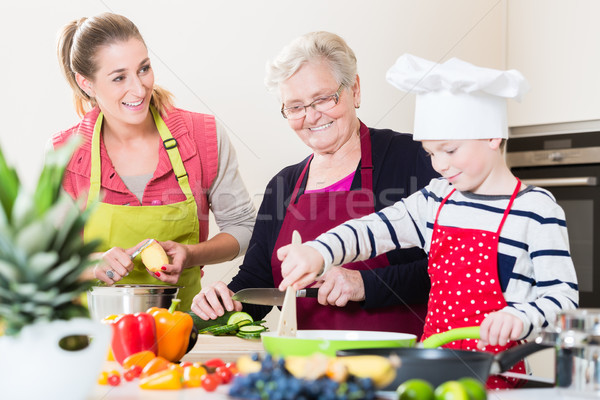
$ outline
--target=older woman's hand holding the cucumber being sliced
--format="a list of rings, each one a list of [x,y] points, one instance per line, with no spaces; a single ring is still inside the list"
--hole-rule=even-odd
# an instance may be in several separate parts
[[[202,288],[192,301],[192,311],[203,320],[216,319],[227,311],[242,311],[242,303],[231,299],[233,292],[223,282]],[[223,308],[223,306],[225,306]]]

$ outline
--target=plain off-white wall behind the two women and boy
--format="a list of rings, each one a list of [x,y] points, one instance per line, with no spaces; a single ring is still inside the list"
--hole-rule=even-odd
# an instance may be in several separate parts
[[[458,56],[494,68],[505,62],[506,0],[3,1],[0,145],[30,186],[47,139],[78,120],[58,69],[56,33],[72,19],[105,11],[138,25],[157,83],[178,106],[215,114],[229,128],[257,205],[268,180],[309,153],[263,86],[266,60],[296,36],[343,36],[359,62],[359,117],[400,131],[412,129],[414,99],[384,77],[402,53],[438,61]],[[205,282],[228,280],[238,261],[207,268]]]

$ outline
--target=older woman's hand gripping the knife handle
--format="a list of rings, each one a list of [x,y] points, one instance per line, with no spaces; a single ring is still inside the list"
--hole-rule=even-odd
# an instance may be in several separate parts
[[[365,299],[365,285],[359,271],[331,267],[313,287],[319,288],[319,304],[344,307],[349,301]]]

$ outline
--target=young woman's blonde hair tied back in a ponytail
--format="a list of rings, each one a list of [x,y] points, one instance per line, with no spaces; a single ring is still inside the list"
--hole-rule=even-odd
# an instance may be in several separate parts
[[[96,106],[96,100],[84,92],[75,73],[93,79],[97,70],[96,54],[103,46],[118,42],[144,39],[133,22],[122,15],[103,13],[90,18],[80,18],[66,24],[58,36],[58,60],[69,86],[73,90],[73,104],[81,117]],[[164,113],[173,107],[173,95],[155,85],[150,101],[157,110]]]

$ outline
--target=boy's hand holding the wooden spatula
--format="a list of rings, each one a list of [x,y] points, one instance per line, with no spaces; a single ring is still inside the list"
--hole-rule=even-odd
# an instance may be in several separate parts
[[[281,261],[281,275],[284,278],[279,290],[285,290],[288,286],[302,289],[314,282],[323,269],[321,253],[310,246],[289,244],[280,247],[277,258]]]

